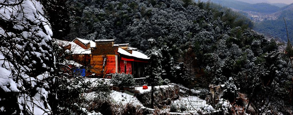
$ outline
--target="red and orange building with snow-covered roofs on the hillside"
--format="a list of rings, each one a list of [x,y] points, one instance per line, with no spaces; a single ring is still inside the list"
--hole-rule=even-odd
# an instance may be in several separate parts
[[[60,45],[60,44],[59,44]],[[129,44],[114,44],[114,40],[74,39],[62,41],[61,46],[70,49],[72,60],[87,67],[86,75],[132,74],[135,78],[144,76],[147,55]]]

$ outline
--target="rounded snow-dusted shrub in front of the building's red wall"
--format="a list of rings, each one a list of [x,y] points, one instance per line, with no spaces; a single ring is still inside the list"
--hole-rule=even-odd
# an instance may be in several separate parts
[[[135,86],[135,81],[131,74],[125,73],[115,73],[111,79],[113,86],[117,87],[133,87]]]

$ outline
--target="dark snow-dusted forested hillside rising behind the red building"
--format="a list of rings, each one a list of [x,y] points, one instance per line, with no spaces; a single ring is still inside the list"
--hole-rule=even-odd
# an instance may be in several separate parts
[[[225,84],[229,90],[224,98],[230,102],[241,92],[259,105],[253,107],[255,113],[268,112],[256,108],[278,108],[270,103],[289,99],[292,93],[285,91],[289,87],[285,81],[292,76],[286,56],[274,39],[249,29],[249,21],[237,20],[239,14],[210,5],[181,0],[81,2],[69,38],[115,39],[142,52],[151,48],[147,41],[152,38],[162,49],[162,69],[171,82],[189,87]]]

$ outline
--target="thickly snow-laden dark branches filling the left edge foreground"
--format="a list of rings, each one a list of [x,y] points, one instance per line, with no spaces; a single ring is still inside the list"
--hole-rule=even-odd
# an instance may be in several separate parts
[[[55,68],[51,36],[39,1],[0,0],[0,113],[52,113],[47,102]]]

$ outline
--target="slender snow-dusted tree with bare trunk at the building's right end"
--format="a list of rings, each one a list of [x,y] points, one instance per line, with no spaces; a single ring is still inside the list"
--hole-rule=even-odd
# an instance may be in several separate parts
[[[151,49],[147,50],[147,55],[150,58],[148,66],[146,67],[146,82],[151,85],[151,108],[154,108],[154,86],[160,85],[162,78],[162,67],[161,67],[161,59],[162,54],[161,51],[155,46],[156,41],[154,39],[148,40],[151,44]]]

